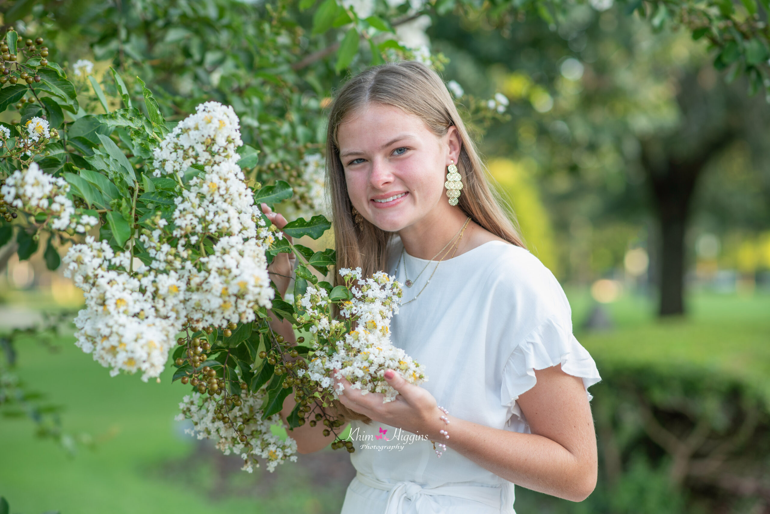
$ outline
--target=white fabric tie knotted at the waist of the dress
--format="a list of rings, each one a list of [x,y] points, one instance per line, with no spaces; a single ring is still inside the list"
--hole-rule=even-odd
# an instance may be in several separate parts
[[[387,506],[383,514],[402,514],[403,503],[413,502],[419,514],[441,514],[441,509],[430,496],[454,496],[470,499],[484,505],[500,509],[500,514],[516,514],[514,512],[514,485],[511,482],[499,487],[486,486],[453,486],[450,484],[437,487],[423,487],[417,482],[396,482],[391,484],[357,472],[356,479],[366,486],[390,491]]]

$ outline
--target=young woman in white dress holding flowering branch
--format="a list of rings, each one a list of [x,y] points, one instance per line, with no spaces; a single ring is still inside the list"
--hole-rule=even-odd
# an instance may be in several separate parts
[[[391,339],[429,376],[413,386],[387,372],[400,394],[385,404],[349,387],[340,396],[357,434],[387,435],[355,442],[343,514],[512,513],[514,483],[585,499],[597,477],[596,365],[572,335],[561,286],[496,202],[439,76],[401,62],[347,82],[331,107],[327,172],[337,263],[396,275],[404,295]],[[290,265],[281,254],[271,269],[282,290]],[[284,417],[293,406],[290,396]],[[323,428],[293,430],[301,453],[332,441]],[[373,446],[397,429],[427,440]]]

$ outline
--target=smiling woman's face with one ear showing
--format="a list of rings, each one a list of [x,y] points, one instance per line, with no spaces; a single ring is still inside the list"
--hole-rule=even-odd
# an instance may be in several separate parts
[[[438,137],[417,116],[372,103],[340,124],[337,142],[350,201],[380,229],[398,232],[451,208],[444,181],[460,154],[454,125]]]

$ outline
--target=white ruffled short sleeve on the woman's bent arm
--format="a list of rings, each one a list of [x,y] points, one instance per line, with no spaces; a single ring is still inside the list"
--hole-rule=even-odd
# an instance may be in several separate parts
[[[500,401],[508,408],[506,426],[525,424],[516,400],[534,387],[534,370],[557,364],[565,373],[583,379],[590,400],[588,388],[601,380],[596,363],[572,335],[571,322],[562,322],[560,316],[552,315],[517,345],[504,365]]]

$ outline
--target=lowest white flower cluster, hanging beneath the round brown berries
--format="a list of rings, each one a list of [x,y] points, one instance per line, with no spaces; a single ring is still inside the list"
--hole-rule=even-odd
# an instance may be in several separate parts
[[[272,425],[283,424],[280,414],[262,419],[260,406],[265,396],[265,389],[244,392],[240,397],[241,405],[233,406],[232,410],[226,412],[229,418],[226,423],[222,412],[217,416],[216,399],[193,392],[192,396],[185,396],[179,403],[182,412],[176,419],[191,419],[192,429],[186,429],[187,433],[198,439],[213,439],[216,447],[225,455],[239,455],[244,460],[241,468],[244,471],[252,472],[254,467],[259,467],[258,459],[265,459],[267,470],[273,472],[286,459],[296,462],[296,441],[291,437],[282,441],[270,430]],[[236,427],[240,425],[243,425],[240,433],[246,436],[246,442],[241,442],[236,432]]]

